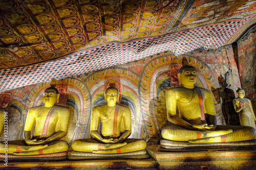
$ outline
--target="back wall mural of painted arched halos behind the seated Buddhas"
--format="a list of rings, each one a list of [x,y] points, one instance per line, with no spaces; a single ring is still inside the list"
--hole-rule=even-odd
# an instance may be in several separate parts
[[[56,88],[60,93],[59,105],[71,108],[69,133],[63,138],[71,144],[76,139],[90,137],[90,117],[92,108],[105,104],[103,90],[109,80],[115,79],[119,87],[120,104],[129,106],[132,111],[132,134],[130,138],[143,138],[148,143],[159,142],[159,131],[168,124],[165,107],[165,90],[178,85],[177,72],[181,67],[182,57],[187,57],[189,64],[198,70],[197,86],[207,89],[220,88],[219,77],[224,75],[224,69],[218,69],[215,63],[225,63],[233,57],[231,46],[222,47],[216,51],[194,51],[189,55],[174,55],[167,51],[144,59],[129,62],[114,67],[90,72],[86,75],[73,76],[57,80]],[[204,61],[197,56],[211,53],[217,59]],[[225,54],[225,55],[224,55]],[[219,61],[221,60],[221,61]],[[230,63],[226,63],[227,66]],[[218,72],[219,71],[219,72]],[[236,72],[234,71],[233,74]],[[233,75],[237,76],[238,75]],[[225,77],[226,78],[226,77]],[[226,78],[227,80],[227,78]],[[239,79],[238,79],[239,81]],[[230,86],[236,86],[233,80]],[[235,83],[235,85],[234,85]],[[21,121],[18,138],[23,138],[24,123],[31,107],[42,105],[42,92],[50,86],[49,82],[37,83],[22,88],[5,91],[0,95],[9,95],[8,100],[2,100],[3,108],[17,109]],[[216,95],[215,102],[219,125],[225,124],[222,116],[221,96]],[[219,97],[219,98],[218,98]],[[0,98],[2,99],[2,98]],[[11,102],[12,99],[12,102]],[[13,111],[10,111],[13,112]],[[16,112],[15,112],[16,113]],[[99,126],[100,128],[100,126]]]

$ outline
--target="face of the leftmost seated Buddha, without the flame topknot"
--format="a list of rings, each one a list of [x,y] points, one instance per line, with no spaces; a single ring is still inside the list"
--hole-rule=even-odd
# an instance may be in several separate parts
[[[45,107],[52,107],[55,102],[59,102],[59,94],[56,94],[54,90],[45,90],[42,100],[45,103]]]

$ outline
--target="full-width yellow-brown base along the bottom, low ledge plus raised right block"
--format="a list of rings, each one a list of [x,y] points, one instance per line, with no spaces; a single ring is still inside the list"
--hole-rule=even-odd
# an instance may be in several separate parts
[[[146,150],[151,158],[146,159],[8,162],[8,166],[0,163],[0,169],[256,169],[256,148],[251,151],[204,149],[159,152],[158,147],[159,145],[148,145]]]

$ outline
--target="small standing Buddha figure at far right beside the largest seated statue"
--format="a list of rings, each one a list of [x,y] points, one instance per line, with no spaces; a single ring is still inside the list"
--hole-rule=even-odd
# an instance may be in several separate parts
[[[245,92],[239,88],[237,90],[238,97],[233,99],[234,110],[239,113],[240,124],[242,126],[250,126],[255,129],[256,117],[253,112],[251,101],[244,98]]]

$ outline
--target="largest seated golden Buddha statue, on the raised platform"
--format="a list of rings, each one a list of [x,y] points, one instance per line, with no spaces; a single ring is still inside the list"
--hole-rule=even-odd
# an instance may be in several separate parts
[[[251,127],[216,125],[216,110],[211,92],[194,86],[197,71],[188,65],[185,57],[182,65],[178,72],[181,86],[166,90],[167,119],[174,126],[163,128],[162,137],[190,143],[255,139],[256,131]],[[176,115],[176,108],[179,116]]]

